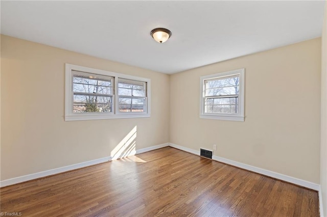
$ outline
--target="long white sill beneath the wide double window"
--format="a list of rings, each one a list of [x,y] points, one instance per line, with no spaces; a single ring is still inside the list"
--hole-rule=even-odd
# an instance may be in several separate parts
[[[121,118],[150,118],[150,114],[69,115],[65,116],[65,121],[104,120]]]

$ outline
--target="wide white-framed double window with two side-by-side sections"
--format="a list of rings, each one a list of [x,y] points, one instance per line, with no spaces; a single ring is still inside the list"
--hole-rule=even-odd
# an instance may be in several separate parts
[[[65,120],[150,117],[150,79],[66,64]]]

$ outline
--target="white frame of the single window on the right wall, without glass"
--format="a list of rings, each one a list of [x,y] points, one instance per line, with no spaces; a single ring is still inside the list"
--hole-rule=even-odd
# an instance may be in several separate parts
[[[204,119],[216,119],[216,120],[227,120],[227,121],[244,121],[244,74],[245,69],[236,69],[232,71],[221,72],[217,74],[204,75],[200,77],[200,118]],[[223,78],[232,75],[240,76],[239,84],[239,96],[238,96],[238,113],[227,114],[227,113],[205,113],[204,112],[204,99],[205,99],[205,80],[213,78]]]

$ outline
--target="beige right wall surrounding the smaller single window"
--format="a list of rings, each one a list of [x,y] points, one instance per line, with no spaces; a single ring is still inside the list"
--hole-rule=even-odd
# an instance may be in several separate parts
[[[170,142],[319,183],[321,39],[171,76]],[[245,121],[199,118],[201,75],[245,68]]]

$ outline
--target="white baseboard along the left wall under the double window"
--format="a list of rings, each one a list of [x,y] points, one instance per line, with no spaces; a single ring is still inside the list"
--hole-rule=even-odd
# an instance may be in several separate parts
[[[152,151],[155,149],[159,149],[159,148],[163,148],[163,147],[167,147],[169,144],[165,143],[165,144],[161,144],[161,145],[156,145],[156,146],[151,146],[148,148],[143,148],[143,149],[139,149],[136,150],[136,154],[141,154],[147,151]],[[62,173],[62,172],[67,172],[67,171],[71,171],[71,170],[76,170],[79,168],[83,168],[83,167],[88,167],[88,166],[92,166],[92,165],[96,165],[96,164],[100,164],[102,162],[106,162],[111,160],[111,156],[108,157],[103,157],[103,158],[99,158],[99,159],[95,159],[95,160],[89,160],[86,162],[81,162],[79,164],[74,164],[74,165],[69,165],[69,166],[65,166],[65,167],[60,167],[60,168],[56,168],[56,169],[52,169],[52,170],[46,170],[46,171],[42,171],[42,172],[38,172],[38,173],[33,173],[33,174],[29,174],[29,175],[25,175],[25,176],[19,176],[19,177],[15,177],[15,178],[11,178],[11,179],[6,179],[3,181],[0,181],[0,187],[4,187],[4,186],[8,186],[8,185],[12,185],[12,184],[17,184],[20,182],[25,182],[25,181],[29,181],[29,180],[33,180],[33,179],[37,179],[37,178],[42,178],[45,176],[50,176],[50,175],[55,175],[58,173]]]

